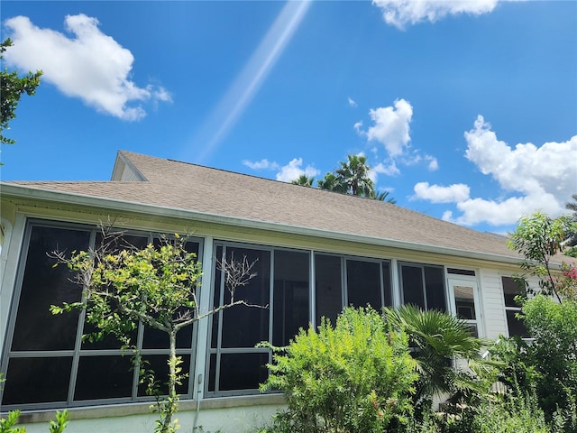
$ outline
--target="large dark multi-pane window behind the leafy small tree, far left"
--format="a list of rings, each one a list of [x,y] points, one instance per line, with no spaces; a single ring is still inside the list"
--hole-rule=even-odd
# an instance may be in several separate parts
[[[131,355],[123,354],[111,336],[89,343],[81,336],[90,332],[84,312],[54,316],[50,305],[81,300],[82,288],[69,281],[66,266],[53,267],[47,253],[55,250],[86,250],[97,242],[99,231],[90,226],[65,226],[39,221],[29,223],[24,238],[19,280],[14,293],[14,308],[3,353],[2,373],[6,382],[2,405],[14,408],[53,408],[86,405],[94,402],[142,400]],[[124,241],[144,246],[150,234],[130,233]],[[188,243],[189,251],[199,253],[200,244]],[[183,369],[190,371],[193,355],[192,328],[179,333],[178,353]],[[166,370],[168,338],[142,325],[137,334],[142,358],[151,364],[162,381]],[[164,339],[163,339],[164,338]],[[31,390],[34,390],[31,392]],[[183,396],[191,396],[188,379],[179,387]]]

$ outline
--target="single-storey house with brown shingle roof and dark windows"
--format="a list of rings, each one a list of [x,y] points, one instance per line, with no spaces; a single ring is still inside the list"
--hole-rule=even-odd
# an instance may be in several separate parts
[[[286,345],[299,327],[334,319],[345,305],[413,303],[465,318],[479,336],[520,332],[510,279],[519,257],[503,237],[389,203],[132,152],[118,153],[110,181],[1,188],[0,395],[2,411],[24,410],[29,431],[43,431],[34,421],[61,408],[71,411],[74,431],[153,426],[130,356],[111,339],[83,342],[83,314],[49,311],[79,300],[81,290],[47,252],[87,249],[102,221],[136,245],[189,234],[203,263],[203,310],[224,299],[216,258],[258,259],[257,277],[237,298],[268,309],[237,306],[179,334],[188,373],[179,389],[183,427],[242,431],[263,422],[282,398],[259,394],[270,352],[255,344]],[[168,352],[162,338],[139,329],[142,356],[159,372]]]

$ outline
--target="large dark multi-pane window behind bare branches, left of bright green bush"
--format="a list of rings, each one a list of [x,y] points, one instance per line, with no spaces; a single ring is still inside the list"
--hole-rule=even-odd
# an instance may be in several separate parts
[[[267,378],[270,353],[254,345],[287,345],[299,327],[308,325],[310,253],[224,243],[216,244],[215,252],[219,261],[246,257],[254,263],[256,276],[238,288],[235,299],[260,307],[238,305],[213,316],[207,395],[257,392]],[[213,305],[229,301],[224,272],[215,269]]]

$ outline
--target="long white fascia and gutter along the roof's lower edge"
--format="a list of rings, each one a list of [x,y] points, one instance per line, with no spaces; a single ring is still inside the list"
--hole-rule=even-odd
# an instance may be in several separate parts
[[[481,253],[481,252],[462,250],[458,248],[436,246],[432,244],[417,244],[413,242],[396,241],[393,239],[384,239],[365,235],[351,235],[348,233],[331,232],[329,230],[302,227],[302,226],[287,226],[279,223],[257,221],[241,217],[226,217],[223,215],[211,214],[206,212],[197,212],[195,210],[179,209],[176,207],[147,205],[142,203],[134,203],[119,200],[116,198],[99,198],[95,196],[88,196],[86,194],[41,189],[37,187],[31,187],[28,185],[7,184],[4,182],[0,182],[0,194],[16,198],[35,198],[55,203],[66,203],[78,206],[106,207],[114,210],[121,210],[138,214],[154,215],[156,217],[194,219],[197,221],[207,223],[218,223],[224,226],[237,226],[237,227],[242,226],[246,228],[255,228],[280,233],[289,233],[293,235],[316,236],[325,239],[356,242],[360,244],[387,246],[391,248],[412,250],[422,253],[440,253],[445,255],[453,255],[482,261],[518,264],[519,261],[521,260],[520,257],[513,257],[502,254]]]

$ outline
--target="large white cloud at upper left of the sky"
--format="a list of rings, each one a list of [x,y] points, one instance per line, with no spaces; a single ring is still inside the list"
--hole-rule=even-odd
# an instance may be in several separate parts
[[[123,120],[146,115],[138,102],[171,100],[165,88],[136,86],[130,79],[133,54],[100,32],[96,18],[67,15],[64,24],[74,37],[41,29],[25,16],[6,20],[6,36],[14,47],[5,51],[5,60],[23,70],[42,69],[42,79],[66,96],[79,97],[88,106]]]

